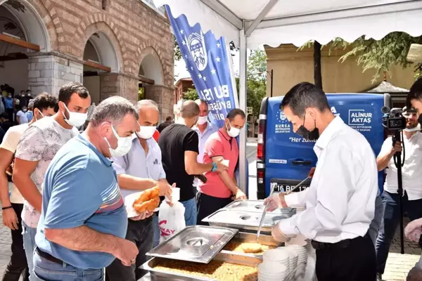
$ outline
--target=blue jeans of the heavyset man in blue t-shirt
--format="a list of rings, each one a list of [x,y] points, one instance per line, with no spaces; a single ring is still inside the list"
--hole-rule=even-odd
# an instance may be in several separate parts
[[[54,263],[34,252],[34,280],[36,281],[103,281],[104,268],[81,269],[65,262]]]

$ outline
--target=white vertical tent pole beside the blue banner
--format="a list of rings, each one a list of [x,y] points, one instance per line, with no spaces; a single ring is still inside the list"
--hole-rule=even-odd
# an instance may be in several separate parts
[[[245,36],[245,30],[239,31],[239,42],[240,42],[240,67],[239,67],[239,107],[243,112],[246,112],[246,62],[248,60],[248,46],[247,37]],[[239,140],[239,183],[238,187],[243,192],[247,192],[248,188],[246,183],[246,169],[248,169],[246,162],[246,126],[241,130],[241,136]],[[246,194],[248,195],[248,194]]]

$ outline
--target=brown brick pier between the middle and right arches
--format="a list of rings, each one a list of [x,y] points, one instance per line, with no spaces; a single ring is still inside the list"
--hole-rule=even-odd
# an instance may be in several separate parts
[[[138,78],[121,73],[100,74],[100,101],[110,96],[122,96],[132,103],[138,101]]]

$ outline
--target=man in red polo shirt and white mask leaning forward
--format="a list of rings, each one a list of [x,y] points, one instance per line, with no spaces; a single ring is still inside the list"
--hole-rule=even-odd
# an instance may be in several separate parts
[[[237,186],[235,169],[239,158],[239,147],[236,137],[245,126],[245,112],[234,109],[226,117],[224,126],[213,133],[205,143],[203,163],[222,162],[229,169],[217,172],[206,172],[207,183],[200,183],[198,196],[198,225],[207,226],[202,220],[232,201],[247,199],[245,193]]]

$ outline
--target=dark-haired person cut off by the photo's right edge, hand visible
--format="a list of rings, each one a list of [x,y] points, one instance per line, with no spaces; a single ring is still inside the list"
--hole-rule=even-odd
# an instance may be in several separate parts
[[[418,116],[418,123],[422,126],[422,79],[418,79],[410,88],[407,95],[407,106],[414,107]],[[418,174],[421,174],[421,166],[417,166]],[[419,242],[421,246],[422,216],[415,221],[411,221],[404,230],[406,237],[414,242]],[[407,275],[407,281],[422,280],[422,256]]]

